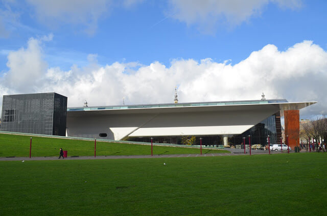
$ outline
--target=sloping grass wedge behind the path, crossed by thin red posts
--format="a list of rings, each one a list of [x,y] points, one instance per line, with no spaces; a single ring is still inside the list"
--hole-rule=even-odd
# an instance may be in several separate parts
[[[59,156],[59,148],[68,156],[94,155],[94,141],[32,137],[32,157]],[[198,154],[199,149],[154,146],[153,154]],[[222,153],[225,150],[203,150],[202,153]],[[0,157],[27,157],[30,154],[30,136],[0,133]],[[147,155],[151,146],[97,142],[97,155]]]

